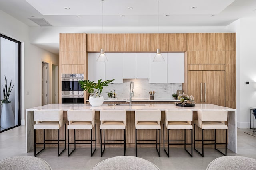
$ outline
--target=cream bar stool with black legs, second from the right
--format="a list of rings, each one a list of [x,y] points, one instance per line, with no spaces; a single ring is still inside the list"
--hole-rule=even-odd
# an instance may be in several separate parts
[[[167,129],[167,140],[164,139],[164,143],[168,142],[168,152],[166,152],[165,147],[164,151],[166,152],[167,156],[170,157],[170,145],[184,145],[184,149],[186,152],[188,150],[186,149],[186,144],[191,145],[191,153],[188,152],[188,154],[193,157],[193,125],[191,125],[191,121],[193,121],[193,111],[192,110],[168,110],[165,111],[165,121],[163,124],[163,133],[164,133],[164,125]],[[184,129],[184,140],[170,140],[169,138],[169,130],[179,130]],[[191,143],[186,143],[186,130],[191,131]],[[184,143],[170,143],[172,141],[177,142],[184,142]]]

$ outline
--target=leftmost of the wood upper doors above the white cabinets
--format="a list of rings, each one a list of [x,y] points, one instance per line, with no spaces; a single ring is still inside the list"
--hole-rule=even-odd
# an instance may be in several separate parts
[[[104,34],[87,34],[87,51],[100,52],[104,48]]]

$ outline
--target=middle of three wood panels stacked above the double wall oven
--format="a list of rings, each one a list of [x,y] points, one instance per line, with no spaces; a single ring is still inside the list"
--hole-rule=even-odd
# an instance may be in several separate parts
[[[61,64],[84,64],[84,51],[60,51]]]

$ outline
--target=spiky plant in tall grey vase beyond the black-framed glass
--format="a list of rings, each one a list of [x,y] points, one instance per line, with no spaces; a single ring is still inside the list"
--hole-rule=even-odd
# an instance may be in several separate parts
[[[10,81],[9,86],[7,85],[7,79],[5,78],[5,85],[3,85],[3,99],[1,100],[2,105],[2,111],[1,111],[1,127],[4,129],[7,129],[9,127],[14,126],[14,113],[12,111],[11,102],[9,101],[10,94],[12,92],[12,88],[14,87],[14,84],[12,85],[12,80]]]

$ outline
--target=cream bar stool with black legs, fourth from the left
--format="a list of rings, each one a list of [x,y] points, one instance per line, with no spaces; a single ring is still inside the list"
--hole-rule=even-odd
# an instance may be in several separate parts
[[[160,110],[135,110],[135,151],[137,156],[137,145],[156,144],[156,151],[160,157],[160,140],[161,140],[161,111]],[[137,130],[155,129],[156,140],[137,140]],[[159,143],[157,141],[159,131]],[[137,141],[155,141],[156,143],[137,143]],[[159,145],[159,150],[157,146]]]

